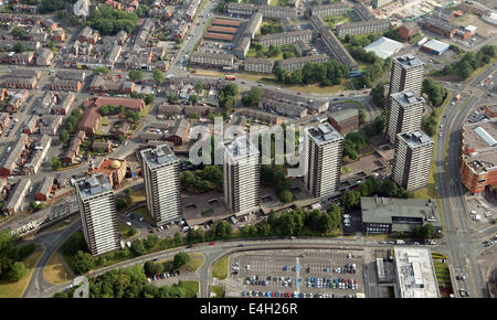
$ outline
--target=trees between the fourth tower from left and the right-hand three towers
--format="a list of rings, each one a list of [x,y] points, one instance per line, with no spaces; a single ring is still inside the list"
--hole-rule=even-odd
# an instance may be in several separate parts
[[[350,160],[357,159],[357,152],[366,147],[368,137],[381,135],[387,126],[387,116],[378,116],[371,124],[357,132],[349,132],[343,139],[343,156]]]

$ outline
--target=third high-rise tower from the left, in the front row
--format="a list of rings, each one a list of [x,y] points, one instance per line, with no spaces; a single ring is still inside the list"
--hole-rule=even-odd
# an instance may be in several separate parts
[[[260,206],[260,152],[245,137],[224,145],[223,188],[228,206],[235,215]]]

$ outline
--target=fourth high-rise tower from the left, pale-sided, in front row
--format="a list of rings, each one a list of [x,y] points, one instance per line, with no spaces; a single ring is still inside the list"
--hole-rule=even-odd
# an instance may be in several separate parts
[[[304,184],[316,198],[334,195],[340,186],[343,138],[329,124],[305,129]]]

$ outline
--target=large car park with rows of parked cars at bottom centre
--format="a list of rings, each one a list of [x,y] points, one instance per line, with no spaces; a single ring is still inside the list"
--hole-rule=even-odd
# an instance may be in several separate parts
[[[357,298],[363,294],[362,265],[362,250],[243,253],[230,259],[226,287],[239,297]]]

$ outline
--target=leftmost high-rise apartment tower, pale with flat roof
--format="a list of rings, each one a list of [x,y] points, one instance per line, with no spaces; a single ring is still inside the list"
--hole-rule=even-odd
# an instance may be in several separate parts
[[[114,191],[103,173],[76,181],[83,234],[89,252],[98,256],[120,248]]]

